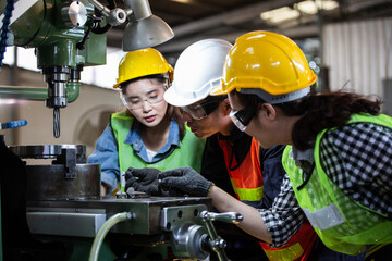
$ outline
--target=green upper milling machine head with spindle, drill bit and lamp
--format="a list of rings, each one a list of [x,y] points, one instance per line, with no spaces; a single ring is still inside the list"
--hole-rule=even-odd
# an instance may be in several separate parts
[[[5,46],[35,48],[37,67],[48,87],[46,107],[53,109],[54,137],[60,136],[60,109],[79,94],[83,66],[106,63],[106,33],[112,26],[128,21],[124,51],[154,47],[174,36],[169,25],[152,15],[148,0],[124,0],[125,10],[115,8],[114,0],[108,2],[109,7],[97,0],[8,0],[0,5],[0,65]],[[36,99],[37,92],[0,89],[2,98]]]

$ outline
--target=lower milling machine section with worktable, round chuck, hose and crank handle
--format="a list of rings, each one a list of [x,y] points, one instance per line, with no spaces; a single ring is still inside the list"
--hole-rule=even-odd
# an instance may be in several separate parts
[[[2,147],[1,150],[5,150]],[[170,246],[177,260],[206,260],[211,251],[217,252],[220,260],[226,260],[223,251],[225,241],[217,235],[212,221],[236,224],[242,221],[242,215],[211,212],[208,198],[150,197],[133,191],[103,199],[100,197],[100,165],[86,164],[85,152],[85,146],[81,145],[9,146],[7,152],[2,151],[1,163],[5,166],[5,173],[16,175],[16,179],[7,176],[8,179],[2,177],[1,181],[3,222],[7,223],[2,227],[4,234],[11,235],[11,239],[3,237],[5,257],[11,257],[7,260],[28,259],[30,256],[23,256],[28,251],[39,257],[37,260],[53,257],[60,260],[56,256],[58,253],[66,257],[61,260],[87,260],[86,251],[83,252],[79,245],[81,240],[86,244],[88,239],[94,239],[93,246],[87,243],[89,260],[98,260],[109,231],[109,243],[114,247],[120,244],[122,252],[119,254],[123,258],[126,256],[119,260],[143,260],[128,254],[138,253],[135,247],[149,247],[154,252],[157,246]],[[52,163],[28,164],[28,159],[49,159]],[[25,181],[22,181],[23,176]],[[3,185],[12,183],[24,184],[22,188],[26,188],[26,194]],[[13,210],[14,204],[24,207],[28,232],[23,231],[23,216]],[[56,240],[64,245],[47,245],[56,249],[56,253],[52,253],[46,244],[40,246],[34,241],[33,245],[39,247],[32,250],[32,243],[26,243],[26,245],[19,243],[21,237],[32,237],[29,233],[40,240],[50,239],[51,243]],[[11,247],[7,240],[11,240]],[[71,249],[68,249],[70,246]],[[133,251],[128,251],[128,248]],[[48,259],[46,254],[49,254]],[[114,260],[108,250],[101,256],[100,260]]]

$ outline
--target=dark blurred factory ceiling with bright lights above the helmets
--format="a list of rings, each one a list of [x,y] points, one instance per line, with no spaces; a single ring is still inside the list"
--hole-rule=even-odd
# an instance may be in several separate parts
[[[117,1],[121,8],[122,1]],[[166,21],[174,38],[156,47],[167,58],[177,57],[187,46],[205,38],[221,38],[234,42],[250,30],[273,30],[293,39],[317,38],[327,23],[350,22],[392,16],[392,0],[336,0],[336,8],[309,14],[299,10],[301,2],[318,7],[329,1],[308,0],[149,0],[152,14]],[[103,3],[103,1],[102,1]],[[299,15],[279,23],[262,20],[260,14],[277,9],[299,11]],[[323,8],[323,5],[322,5]],[[108,46],[121,48],[124,25],[108,34]]]

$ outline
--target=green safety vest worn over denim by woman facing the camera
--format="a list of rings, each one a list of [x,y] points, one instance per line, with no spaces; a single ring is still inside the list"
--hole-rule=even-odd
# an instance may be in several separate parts
[[[135,169],[154,167],[160,171],[180,166],[191,166],[195,171],[200,172],[205,139],[197,138],[191,129],[186,127],[184,138],[171,154],[158,162],[148,163],[136,153],[132,145],[124,142],[130,133],[133,119],[134,117],[127,115],[125,111],[122,111],[112,114],[110,122],[119,146],[120,188],[122,191],[124,191],[125,187],[124,173],[130,166]]]

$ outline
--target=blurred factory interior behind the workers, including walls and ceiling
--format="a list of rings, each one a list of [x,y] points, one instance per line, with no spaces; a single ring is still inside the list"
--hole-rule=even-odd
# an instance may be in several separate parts
[[[174,4],[179,1],[167,2]],[[219,1],[212,2],[216,4],[215,7],[218,7]],[[150,1],[152,12],[162,16],[169,25],[172,22],[173,30],[177,33],[172,40],[156,48],[174,66],[181,51],[198,39],[216,37],[234,42],[237,36],[247,30],[271,29],[292,37],[304,50],[310,66],[319,74],[319,90],[344,88],[364,95],[377,95],[384,101],[383,111],[392,114],[391,1],[314,1],[315,3],[334,2],[333,10],[341,9],[340,12],[342,12],[343,4],[346,10],[362,12],[359,16],[354,16],[357,14],[354,13],[353,17],[346,15],[340,20],[328,18],[328,16],[323,18],[323,16],[317,16],[317,13],[309,18],[310,15],[302,14],[299,17],[289,18],[289,22],[280,21],[280,26],[274,27],[271,26],[273,13],[267,13],[269,15],[268,25],[267,23],[257,24],[254,22],[255,17],[252,20],[253,26],[249,27],[243,24],[238,26],[235,23],[244,21],[244,17],[252,16],[259,10],[267,15],[267,9],[271,9],[272,12],[291,7],[294,10],[293,3],[313,1],[275,1],[274,4],[268,4],[266,1],[229,2],[232,2],[233,7],[236,4],[236,9],[220,13],[218,10],[215,12],[213,10],[204,10],[204,15],[195,15],[194,21],[189,21],[191,18],[181,21],[170,17],[170,14],[175,12],[173,7],[172,13],[163,14],[161,4]],[[186,1],[183,4],[185,5]],[[205,1],[188,1],[187,4],[204,4],[203,7],[208,9]],[[382,9],[383,12],[380,11]],[[203,13],[201,11],[203,9],[199,10],[200,13]],[[184,12],[189,11],[184,9]],[[332,11],[326,10],[326,12]],[[283,14],[284,17],[289,17],[287,15]],[[231,17],[231,23],[226,22],[228,17]],[[260,21],[261,17],[257,16]],[[323,18],[322,24],[320,18]],[[210,24],[210,27],[215,27],[215,29],[207,28],[206,24]],[[235,28],[235,32],[229,32],[226,28],[230,26]],[[119,61],[124,54],[118,44],[121,29],[115,28],[108,33],[107,64],[84,67],[79,97],[69,103],[66,108],[61,109],[61,135],[59,138],[54,138],[52,135],[52,110],[45,107],[44,100],[0,99],[0,122],[21,119],[28,121],[24,127],[0,130],[5,135],[5,142],[8,145],[83,144],[87,146],[87,152],[90,153],[96,139],[109,121],[110,113],[122,110],[119,95],[112,88],[117,78]],[[34,49],[28,51],[29,57],[27,58],[24,54],[26,53],[24,48],[7,48],[4,65],[0,72],[0,85],[46,87],[42,74],[37,67],[34,67],[36,63]],[[26,61],[30,64],[29,69],[22,67]]]

